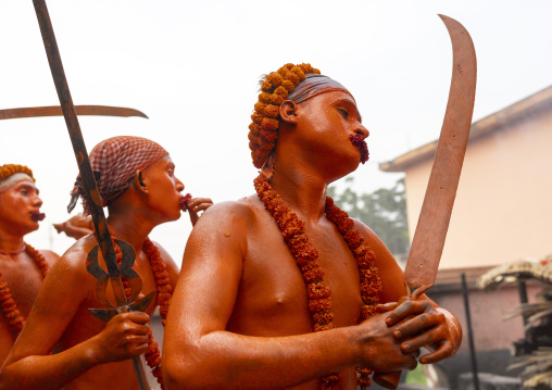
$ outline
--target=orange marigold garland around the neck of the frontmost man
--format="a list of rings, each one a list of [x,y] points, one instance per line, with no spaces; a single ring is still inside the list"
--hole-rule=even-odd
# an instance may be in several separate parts
[[[309,243],[304,232],[304,223],[296,213],[284,203],[284,200],[271,187],[264,175],[254,179],[255,190],[264,206],[274,216],[284,241],[293,254],[306,285],[309,297],[309,311],[314,322],[314,331],[334,328],[334,314],[331,307],[330,290],[324,281],[324,269],[317,262],[318,252]],[[364,244],[364,238],[354,227],[354,222],[349,215],[334,204],[334,200],[326,198],[326,216],[331,221],[351,250],[359,267],[362,307],[359,323],[369,318],[376,313],[376,305],[381,291],[379,273],[374,266],[374,251]],[[356,382],[361,389],[371,385],[372,372],[366,367],[356,367]],[[339,376],[334,373],[322,378],[322,389],[342,389]]]

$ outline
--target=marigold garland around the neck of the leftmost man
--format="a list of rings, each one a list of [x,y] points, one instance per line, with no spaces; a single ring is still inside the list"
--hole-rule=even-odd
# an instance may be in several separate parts
[[[5,166],[5,165],[4,165]],[[46,262],[45,256],[38,252],[35,248],[30,247],[28,243],[25,243],[25,252],[33,259],[35,264],[40,269],[42,277],[46,277],[50,266]],[[8,284],[5,282],[2,273],[0,272],[0,306],[2,307],[2,313],[4,317],[8,319],[8,325],[10,329],[13,331],[14,336],[17,337],[25,325],[25,319],[20,313],[15,301],[13,300],[12,293]]]

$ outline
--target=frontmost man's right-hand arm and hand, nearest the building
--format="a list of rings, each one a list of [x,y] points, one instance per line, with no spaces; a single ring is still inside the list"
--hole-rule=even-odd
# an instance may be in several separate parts
[[[384,286],[380,297],[384,305],[379,311],[390,312],[386,322],[389,326],[398,326],[396,337],[401,340],[403,352],[421,348],[432,351],[419,358],[422,364],[436,363],[456,353],[462,343],[462,327],[456,317],[426,294],[398,306],[396,302],[406,294],[402,269],[374,231],[359,221],[355,221],[355,226],[376,253],[376,266]],[[415,317],[404,320],[410,316]]]

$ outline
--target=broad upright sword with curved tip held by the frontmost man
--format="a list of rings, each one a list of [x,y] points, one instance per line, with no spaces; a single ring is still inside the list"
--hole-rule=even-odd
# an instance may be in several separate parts
[[[452,41],[452,79],[434,166],[404,269],[410,295],[406,299],[417,299],[435,284],[474,112],[477,79],[474,42],[459,22],[439,16]],[[397,388],[400,373],[374,374],[374,381],[389,389]]]

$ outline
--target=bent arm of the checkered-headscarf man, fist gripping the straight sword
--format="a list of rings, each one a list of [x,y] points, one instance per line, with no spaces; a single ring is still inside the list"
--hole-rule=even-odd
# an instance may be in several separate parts
[[[115,316],[101,334],[50,355],[79,305],[93,293],[96,279],[87,274],[81,255],[67,251],[48,273],[2,366],[0,389],[59,389],[98,364],[146,351],[149,316],[135,312]]]

